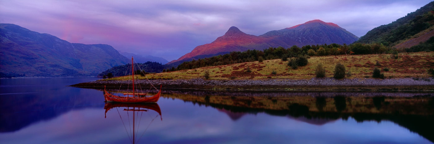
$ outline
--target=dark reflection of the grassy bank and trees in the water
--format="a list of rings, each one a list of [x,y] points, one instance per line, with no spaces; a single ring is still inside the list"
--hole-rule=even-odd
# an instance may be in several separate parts
[[[197,94],[197,95],[195,95]],[[286,116],[313,125],[352,117],[357,122],[391,121],[434,141],[434,97],[414,93],[219,93],[173,92],[165,98],[211,106],[232,120],[247,114]]]

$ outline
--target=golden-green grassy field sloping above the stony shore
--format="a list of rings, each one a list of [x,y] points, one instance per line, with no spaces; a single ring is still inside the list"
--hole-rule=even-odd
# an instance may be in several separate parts
[[[267,78],[292,78],[310,79],[315,77],[316,66],[321,63],[326,70],[326,77],[333,77],[333,71],[337,63],[342,63],[351,76],[346,78],[372,78],[374,67],[381,69],[385,78],[404,77],[430,77],[428,69],[434,69],[434,52],[399,53],[398,59],[391,58],[391,54],[370,55],[339,55],[339,56],[312,56],[306,66],[291,69],[287,61],[281,59],[264,60],[260,62],[237,63],[224,66],[210,66],[197,69],[180,70],[174,72],[162,72],[146,75],[149,79],[191,79],[203,78],[206,71],[210,79],[267,79]],[[379,66],[376,63],[380,64]],[[383,70],[388,68],[388,71]],[[247,72],[250,69],[251,72]],[[276,74],[272,74],[275,71]],[[146,79],[144,76],[135,75],[135,78]],[[129,80],[130,76],[115,77],[105,80]]]

